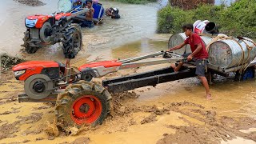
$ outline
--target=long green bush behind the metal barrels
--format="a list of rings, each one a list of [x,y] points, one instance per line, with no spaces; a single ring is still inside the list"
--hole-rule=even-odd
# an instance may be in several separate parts
[[[221,33],[256,38],[255,15],[254,0],[240,0],[229,7],[204,4],[193,10],[166,6],[158,11],[158,33],[179,33],[183,24],[207,19],[221,26]]]

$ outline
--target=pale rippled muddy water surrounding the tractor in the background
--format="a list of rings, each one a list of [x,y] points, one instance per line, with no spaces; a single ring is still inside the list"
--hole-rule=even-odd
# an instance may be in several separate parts
[[[21,50],[24,18],[30,14],[51,14],[57,9],[58,1],[43,0],[45,6],[25,6],[13,1],[1,3],[1,10],[6,14],[1,15],[0,22],[0,50],[1,53],[18,55],[30,60],[58,60],[64,61],[62,46],[44,47],[36,54],[26,54]],[[74,61],[79,58],[88,58],[90,54],[107,55],[113,48],[123,44],[137,41],[141,38],[150,38],[154,35],[156,27],[157,4],[127,5],[119,2],[101,1],[107,7],[118,7],[122,18],[114,20],[105,18],[103,25],[94,26],[92,29],[82,29],[83,50]],[[97,56],[98,56],[97,55]],[[96,57],[97,57],[96,56]]]

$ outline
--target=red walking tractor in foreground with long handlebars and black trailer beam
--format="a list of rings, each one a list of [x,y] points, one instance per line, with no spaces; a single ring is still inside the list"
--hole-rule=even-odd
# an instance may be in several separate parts
[[[137,58],[92,62],[78,68],[70,66],[70,59],[66,60],[66,65],[52,61],[23,62],[14,66],[13,71],[17,80],[24,81],[25,94],[18,95],[18,102],[56,102],[55,114],[58,126],[70,132],[70,126],[77,126],[79,129],[87,124],[90,126],[101,124],[110,113],[111,93],[134,90],[142,86],[156,86],[158,83],[196,75],[194,62],[188,62],[178,72],[174,72],[168,66],[141,74],[106,79],[102,81],[102,86],[91,82],[93,78],[118,70],[181,60],[186,62],[186,58],[178,54],[159,51]],[[208,64],[207,73],[227,76],[230,72],[236,72],[244,79],[253,78],[255,64],[254,61],[245,63],[244,66],[247,68],[242,74],[239,72],[242,66],[225,69]]]

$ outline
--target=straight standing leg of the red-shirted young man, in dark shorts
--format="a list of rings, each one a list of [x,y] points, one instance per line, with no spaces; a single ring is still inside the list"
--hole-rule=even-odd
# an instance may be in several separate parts
[[[209,89],[209,85],[208,85],[208,81],[206,79],[206,60],[202,60],[202,59],[198,59],[196,60],[196,70],[195,70],[195,74],[198,75],[198,78],[201,80],[202,82],[202,86],[205,87],[206,89],[206,98],[207,99],[211,99],[211,94],[210,94],[210,89]]]

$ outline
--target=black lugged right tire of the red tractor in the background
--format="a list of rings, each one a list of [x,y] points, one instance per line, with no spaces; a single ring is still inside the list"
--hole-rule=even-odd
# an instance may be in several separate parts
[[[71,24],[66,29],[63,42],[63,53],[65,58],[74,58],[82,49],[82,32],[78,24]]]

